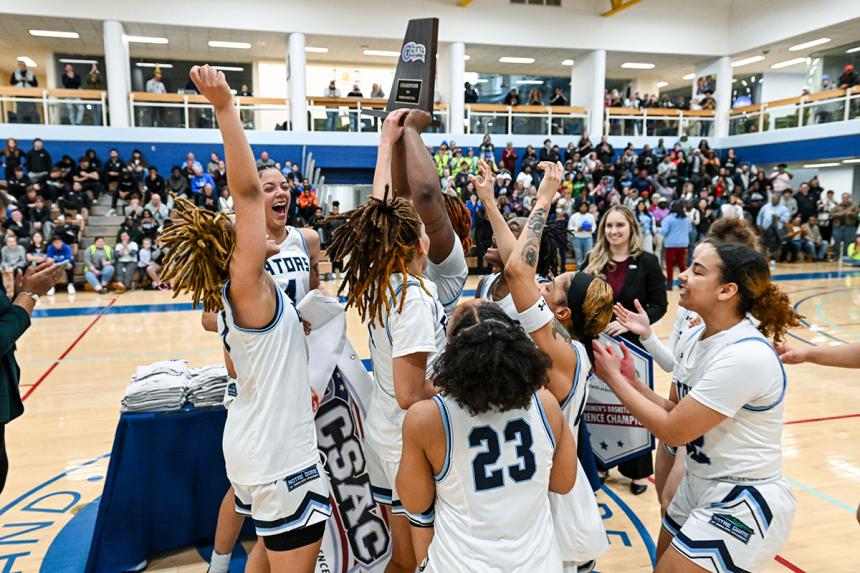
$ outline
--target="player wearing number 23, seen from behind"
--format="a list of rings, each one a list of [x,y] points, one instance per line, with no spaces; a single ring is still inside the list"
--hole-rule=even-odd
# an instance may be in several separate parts
[[[451,317],[436,362],[440,393],[403,425],[397,491],[407,509],[434,505],[423,572],[561,572],[549,491],[576,477],[576,446],[543,387],[550,360],[497,305]],[[434,483],[435,482],[435,483]]]

